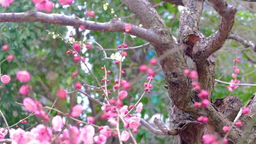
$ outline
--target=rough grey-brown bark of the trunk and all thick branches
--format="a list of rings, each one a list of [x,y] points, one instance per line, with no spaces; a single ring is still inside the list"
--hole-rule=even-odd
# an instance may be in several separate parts
[[[162,0],[177,5],[183,5],[184,10],[180,17],[179,45],[174,41],[169,28],[164,24],[161,16],[153,8],[148,0],[122,0],[129,9],[140,19],[145,28],[132,25],[130,34],[140,37],[155,48],[159,57],[168,51],[177,49],[180,45],[186,46],[184,53],[194,62],[198,71],[198,82],[202,89],[209,92],[208,99],[212,98],[212,91],[215,79],[216,56],[214,52],[219,50],[226,39],[235,39],[244,44],[255,48],[251,43],[244,42],[238,37],[229,36],[236,8],[233,4],[225,0],[209,0],[214,9],[222,16],[219,30],[210,37],[205,37],[200,31],[200,17],[203,9],[203,0]],[[102,32],[124,32],[126,23],[113,19],[110,22],[98,23],[85,21],[80,18],[60,14],[46,14],[42,12],[29,11],[26,13],[1,13],[0,22],[32,22],[39,21],[49,24],[70,25],[79,27],[85,25],[88,30]],[[182,52],[177,51],[164,56],[160,60],[167,82],[168,93],[171,98],[169,107],[169,118],[171,128],[166,128],[159,120],[155,120],[159,130],[152,129],[147,123],[142,124],[155,134],[177,135],[175,144],[202,144],[202,135],[207,132],[216,132],[216,135],[224,137],[222,128],[225,125],[231,126],[234,117],[237,115],[241,102],[236,96],[228,96],[218,99],[214,104],[211,102],[207,108],[195,108],[194,102],[199,101],[197,94],[192,86],[191,79],[183,74],[188,68]],[[251,113],[242,116],[241,121],[244,125],[252,120],[255,124],[256,119],[256,96],[253,95],[248,105]],[[208,125],[198,123],[196,118],[204,115],[209,118]],[[244,132],[247,132],[244,135]],[[247,129],[234,127],[228,135],[229,144],[236,144],[242,137],[247,136],[246,144],[255,144],[256,128],[252,126]]]

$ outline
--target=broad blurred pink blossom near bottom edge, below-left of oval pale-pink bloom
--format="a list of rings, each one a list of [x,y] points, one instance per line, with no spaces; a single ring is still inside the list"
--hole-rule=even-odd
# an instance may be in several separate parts
[[[41,143],[50,143],[52,138],[52,131],[45,125],[37,125],[36,128],[31,129],[32,134],[36,135],[36,139]]]

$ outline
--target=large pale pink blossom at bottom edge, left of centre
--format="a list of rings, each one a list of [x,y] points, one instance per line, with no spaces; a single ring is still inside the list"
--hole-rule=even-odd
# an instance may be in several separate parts
[[[86,125],[81,129],[80,140],[82,140],[84,144],[93,144],[94,134],[94,127],[91,125]]]

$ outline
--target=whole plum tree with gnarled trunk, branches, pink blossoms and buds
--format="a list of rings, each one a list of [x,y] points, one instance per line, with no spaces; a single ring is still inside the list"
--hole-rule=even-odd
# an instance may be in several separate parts
[[[3,7],[9,7],[15,2],[13,0],[0,0]],[[166,2],[183,6],[179,17],[177,40],[149,0],[121,0],[122,4],[125,4],[125,7],[138,17],[142,24],[139,26],[118,18],[114,9],[111,8],[111,3],[106,3],[106,1],[101,1],[103,5],[101,9],[110,10],[109,14],[113,16],[113,19],[109,22],[87,20],[88,17],[94,18],[97,15],[97,12],[91,10],[86,10],[84,13],[85,19],[50,13],[54,11],[55,7],[58,7],[57,3],[72,8],[72,4],[76,3],[73,0],[58,0],[56,3],[51,0],[32,0],[32,2],[38,11],[0,13],[0,22],[41,22],[57,26],[75,27],[77,37],[81,40],[75,39],[76,35],[73,32],[68,37],[55,34],[54,31],[48,31],[48,33],[56,42],[62,40],[68,46],[67,49],[62,50],[67,55],[73,55],[73,63],[78,63],[79,67],[83,65],[96,86],[88,85],[86,80],[80,80],[79,72],[76,70],[72,74],[70,73],[75,80],[72,84],[72,91],[66,91],[66,88],[58,88],[55,90],[57,91],[56,96],[52,96],[51,92],[48,92],[49,89],[45,83],[40,80],[40,77],[37,77],[36,80],[45,89],[46,95],[49,94],[54,98],[51,107],[43,106],[42,102],[38,100],[38,96],[33,95],[32,91],[36,91],[37,88],[30,84],[30,81],[34,80],[34,78],[31,78],[31,73],[26,70],[26,67],[19,67],[19,71],[15,71],[16,83],[21,83],[19,94],[24,96],[22,103],[18,103],[30,113],[27,118],[35,115],[37,119],[41,120],[41,124],[28,131],[18,128],[18,123],[27,123],[25,121],[27,118],[25,118],[16,123],[17,128],[14,129],[11,128],[12,126],[8,126],[4,114],[0,111],[7,126],[6,129],[0,128],[1,142],[12,142],[14,144],[101,144],[110,140],[113,136],[118,138],[117,143],[123,144],[130,140],[137,144],[138,141],[134,134],[139,132],[138,128],[141,124],[155,135],[175,136],[174,144],[256,143],[256,94],[247,99],[243,106],[240,99],[234,95],[219,98],[213,102],[215,81],[228,84],[226,91],[229,92],[235,91],[239,85],[248,85],[237,79],[238,74],[240,74],[238,63],[241,60],[237,53],[235,53],[236,58],[232,61],[235,66],[233,67],[234,73],[231,74],[231,82],[216,80],[217,56],[214,53],[221,50],[227,39],[236,40],[246,48],[250,47],[256,52],[255,43],[230,34],[237,13],[237,7],[234,4],[225,0],[208,0],[210,6],[214,8],[221,19],[217,31],[210,36],[205,36],[199,29],[204,9],[203,0],[162,0],[161,3]],[[116,49],[104,49],[95,41],[97,38],[95,40],[84,40],[83,36],[78,36],[79,31],[83,31],[84,34],[87,30],[101,33],[119,32],[124,39],[122,43],[120,42],[116,46]],[[147,43],[141,46],[128,47],[125,42],[127,42],[129,35],[143,39]],[[97,45],[95,46],[97,49],[94,49],[98,51],[97,53],[103,52],[104,58],[102,60],[111,61],[117,67],[116,80],[111,79],[111,75],[114,73],[111,70],[112,66],[107,65],[107,63],[106,65],[97,65],[95,71],[92,71],[89,67],[88,58],[86,59],[83,50],[92,50],[91,42]],[[138,70],[147,77],[143,79],[144,83],[140,86],[143,93],[138,96],[138,99],[134,102],[135,104],[132,104],[128,98],[131,98],[129,91],[132,89],[134,82],[125,77],[126,72],[124,70],[124,63],[129,55],[127,51],[145,48],[149,45],[153,46],[157,58],[148,60],[149,65],[138,65]],[[8,45],[2,46],[4,52],[8,52],[9,49]],[[110,50],[116,52],[108,57],[106,52]],[[10,62],[12,59],[15,59],[15,56],[8,55],[0,64],[6,60]],[[16,62],[19,63],[17,60]],[[189,64],[189,62],[192,64]],[[65,67],[65,64],[62,66]],[[143,107],[146,105],[142,102],[143,96],[153,91],[153,83],[157,81],[156,70],[153,69],[156,66],[161,68],[167,84],[164,88],[168,90],[168,98],[170,98],[168,107],[169,128],[157,118],[154,119],[157,128],[153,128],[143,119],[143,116],[137,116],[137,113],[143,112]],[[101,77],[95,76],[96,71],[100,73]],[[55,77],[53,75],[49,74],[49,77]],[[51,82],[54,83],[55,79],[52,79]],[[111,81],[115,82],[111,83]],[[1,74],[1,82],[3,88],[1,87],[0,102],[5,86],[10,85],[12,81],[10,76]],[[249,86],[255,85],[250,84]],[[88,87],[97,91],[97,96],[96,94],[90,94],[87,91]],[[107,123],[103,124],[104,126],[97,125],[100,120],[95,122],[96,116],[89,116],[86,120],[79,119],[85,107],[82,104],[76,104],[75,98],[72,96],[75,93],[83,94],[88,97],[90,102],[98,104],[97,107],[100,107],[102,111],[99,112],[97,117],[100,117],[101,120],[107,120]],[[68,112],[55,108],[55,104],[61,103],[60,99],[70,101],[70,109],[66,110]],[[57,115],[52,115],[52,117],[51,111],[55,111]],[[76,122],[81,127],[78,128],[74,123],[68,122]],[[8,133],[10,139],[5,138]]]

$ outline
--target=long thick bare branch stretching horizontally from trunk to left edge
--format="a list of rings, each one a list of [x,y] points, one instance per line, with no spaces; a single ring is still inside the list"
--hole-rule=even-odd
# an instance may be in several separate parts
[[[77,17],[71,17],[62,14],[47,14],[29,10],[22,13],[0,13],[0,22],[42,22],[48,24],[66,25],[79,27],[84,25],[87,30],[101,31],[101,32],[125,32],[125,22],[118,19],[112,19],[110,22],[94,22],[86,21]],[[145,28],[132,25],[129,34],[140,37],[147,42],[157,42],[156,33]]]

